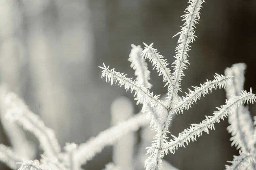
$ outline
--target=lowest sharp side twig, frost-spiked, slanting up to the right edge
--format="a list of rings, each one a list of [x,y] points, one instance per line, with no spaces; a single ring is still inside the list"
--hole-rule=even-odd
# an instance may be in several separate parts
[[[230,100],[227,100],[226,104],[222,105],[220,108],[216,107],[219,111],[215,111],[213,116],[206,116],[206,119],[199,124],[191,124],[190,128],[185,129],[179,134],[178,137],[172,135],[174,140],[171,139],[167,147],[162,148],[162,151],[168,152],[167,149],[169,149],[171,153],[174,153],[175,149],[178,149],[178,147],[185,147],[184,143],[188,145],[190,140],[196,140],[196,137],[201,136],[202,132],[206,132],[208,134],[209,129],[214,129],[214,123],[218,123],[221,119],[224,120],[224,117],[227,117],[227,115],[232,114],[232,109],[246,102],[247,104],[253,104],[255,99],[255,94],[252,93],[251,89],[250,92],[242,91],[240,96],[232,97]],[[152,152],[154,152],[153,149]]]

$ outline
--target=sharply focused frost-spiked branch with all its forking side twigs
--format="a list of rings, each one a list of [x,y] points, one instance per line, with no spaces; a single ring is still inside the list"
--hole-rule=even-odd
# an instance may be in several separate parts
[[[183,109],[189,109],[201,96],[212,92],[213,89],[225,88],[226,85],[230,85],[231,78],[235,76],[230,74],[226,74],[226,76],[216,74],[214,80],[207,80],[207,82],[200,84],[199,87],[192,87],[193,90],[189,89],[189,93],[185,93],[186,96],[179,98],[179,101],[177,101],[178,92],[181,92],[181,79],[182,76],[184,76],[183,70],[186,69],[187,64],[189,64],[188,51],[191,47],[190,43],[195,41],[196,36],[194,35],[194,29],[195,24],[198,23],[197,21],[200,19],[199,10],[202,7],[202,3],[204,3],[204,0],[189,0],[190,5],[186,8],[186,14],[182,16],[185,23],[181,31],[176,34],[179,35],[179,39],[178,46],[176,47],[176,60],[173,63],[173,73],[171,73],[171,69],[168,67],[169,64],[167,60],[159,54],[157,49],[153,48],[153,43],[149,46],[144,43],[145,49],[142,51],[141,56],[139,56],[141,51],[140,46],[136,47],[132,45],[133,49],[131,50],[129,61],[132,62],[131,67],[135,69],[136,80],[127,78],[124,73],[109,69],[105,64],[103,64],[103,67],[100,67],[103,69],[102,78],[106,77],[106,81],[111,82],[111,85],[118,83],[120,86],[124,85],[127,91],[135,91],[134,93],[137,95],[135,99],[138,100],[137,104],[143,104],[142,113],[147,113],[149,115],[148,118],[151,119],[150,124],[156,132],[156,135],[154,135],[151,146],[147,147],[147,153],[149,153],[150,156],[145,161],[146,170],[161,169],[162,157],[168,154],[169,151],[174,153],[179,147],[185,146],[185,143],[188,145],[190,140],[196,140],[196,137],[201,136],[202,132],[208,134],[209,130],[214,129],[214,123],[218,123],[220,120],[224,120],[228,115],[233,114],[233,110],[239,110],[239,106],[245,103],[255,102],[255,95],[252,93],[251,89],[249,92],[243,91],[242,88],[237,89],[235,94],[229,95],[225,105],[216,107],[218,110],[213,113],[213,116],[206,116],[206,119],[199,124],[191,124],[191,126],[181,132],[178,137],[172,135],[173,138],[167,141],[166,134],[170,133],[168,126],[170,125],[170,120],[172,120],[172,114],[178,114],[178,112],[183,113]],[[136,55],[135,50],[137,51]],[[145,62],[144,58],[149,59],[149,62],[154,66],[153,69],[156,69],[159,76],[163,77],[163,82],[165,86],[167,86],[167,101],[163,102],[159,99],[160,95],[153,95],[153,92],[149,91],[151,88],[151,85],[148,86],[148,80],[150,79],[149,72],[146,70],[146,64],[141,64]],[[243,74],[243,71],[238,71],[238,73]],[[243,84],[243,82],[240,82],[240,84]],[[251,122],[248,116],[244,116],[244,121]],[[253,128],[248,125],[247,128],[249,127],[250,132],[247,131],[246,133],[252,135],[251,132]],[[239,136],[239,139],[242,139],[241,134],[239,135],[240,130],[232,129],[229,131],[232,132],[233,136]],[[239,139],[232,140],[238,145]],[[248,139],[244,140],[249,141]],[[247,145],[252,146],[254,143],[249,142]],[[239,147],[241,146],[239,145]]]

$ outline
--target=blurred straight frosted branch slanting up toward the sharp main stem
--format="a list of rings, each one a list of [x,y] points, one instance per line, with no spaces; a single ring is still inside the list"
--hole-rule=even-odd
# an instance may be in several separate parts
[[[88,142],[80,144],[76,151],[75,160],[80,164],[84,164],[101,152],[105,146],[113,145],[122,135],[137,131],[141,126],[147,124],[148,120],[146,120],[144,113],[138,113],[134,117],[120,122],[118,125],[102,131]]]

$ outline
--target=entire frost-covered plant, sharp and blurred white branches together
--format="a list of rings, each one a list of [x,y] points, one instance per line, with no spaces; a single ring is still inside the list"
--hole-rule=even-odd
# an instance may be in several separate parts
[[[209,130],[214,129],[214,123],[218,123],[228,117],[230,123],[228,131],[232,135],[230,140],[232,145],[235,145],[240,150],[240,155],[234,156],[234,160],[230,162],[231,165],[226,165],[226,169],[256,169],[256,121],[254,120],[253,123],[248,107],[243,106],[245,103],[255,102],[256,97],[251,89],[249,92],[243,90],[245,64],[234,64],[226,69],[225,76],[215,74],[213,80],[207,80],[198,87],[192,87],[193,90],[189,89],[189,93],[185,93],[185,96],[179,97],[178,95],[178,92],[181,92],[183,70],[189,64],[188,51],[191,48],[190,44],[195,41],[195,24],[200,19],[199,10],[203,3],[204,0],[189,0],[190,5],[186,8],[185,15],[182,16],[185,23],[177,34],[179,39],[176,47],[176,60],[172,64],[173,72],[171,72],[167,60],[159,54],[157,49],[153,48],[153,43],[149,46],[145,44],[144,50],[141,46],[131,45],[132,49],[128,60],[135,70],[135,76],[137,76],[135,80],[127,78],[124,73],[109,69],[105,64],[100,67],[103,69],[102,78],[106,77],[106,81],[111,82],[111,85],[118,83],[120,86],[124,86],[127,91],[134,92],[137,104],[142,104],[143,106],[140,113],[132,116],[132,111],[127,112],[127,115],[119,117],[120,119],[118,120],[122,121],[118,122],[115,121],[118,111],[112,111],[115,112],[112,115],[114,126],[100,132],[96,137],[85,143],[79,145],[67,143],[61,149],[54,131],[46,127],[40,117],[32,113],[15,93],[9,92],[1,86],[1,121],[5,124],[4,128],[8,132],[12,147],[0,144],[0,160],[14,170],[81,170],[81,166],[93,159],[104,147],[114,145],[124,134],[129,134],[126,137],[130,136],[124,142],[131,141],[129,142],[131,144],[134,138],[132,132],[137,131],[142,126],[147,126],[147,129],[144,129],[144,132],[146,132],[150,124],[151,129],[153,129],[151,132],[155,133],[155,135],[154,137],[152,135],[154,139],[151,142],[151,146],[147,147],[148,157],[145,160],[145,169],[176,169],[171,165],[165,166],[168,163],[162,160],[164,155],[169,152],[174,154],[179,147],[185,147],[185,144],[188,145],[190,141],[200,137],[202,132],[209,134]],[[152,85],[149,83],[150,71],[145,62],[146,59],[152,63],[159,75],[163,77],[163,82],[167,87],[167,97],[164,100],[160,99],[160,95],[154,95],[153,92],[150,92]],[[227,92],[226,103],[217,107],[217,111],[213,112],[212,116],[206,116],[205,120],[198,124],[191,124],[189,128],[184,129],[178,136],[172,135],[172,138],[167,140],[167,133],[170,133],[168,127],[173,115],[183,113],[184,109],[189,109],[201,96],[212,92],[213,89],[225,87]],[[33,147],[28,147],[30,146],[29,141],[22,135],[17,125],[33,133],[38,138],[40,147],[43,150],[40,161],[34,160],[34,151],[33,149],[31,150]],[[148,135],[145,135],[142,140],[144,141],[143,147],[148,144],[147,137]],[[24,142],[17,142],[21,140]],[[121,140],[118,142],[121,142]],[[114,149],[118,149],[120,146],[122,146],[122,143],[116,143]],[[20,150],[19,148],[26,148],[26,150]],[[129,148],[132,148],[132,146],[129,146]],[[141,155],[141,157],[146,155],[146,151],[143,154],[142,148],[139,152],[140,154],[138,155]],[[119,154],[118,150],[115,151],[115,154]],[[131,151],[130,154],[132,154]],[[132,160],[132,157],[129,157],[129,162]],[[137,160],[140,159],[138,158]],[[133,168],[133,166],[130,167]],[[106,170],[121,168],[113,163],[105,166]]]

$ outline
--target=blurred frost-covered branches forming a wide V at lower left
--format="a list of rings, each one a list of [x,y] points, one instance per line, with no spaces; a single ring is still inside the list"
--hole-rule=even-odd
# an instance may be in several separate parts
[[[121,136],[149,124],[146,116],[138,113],[101,132],[84,144],[67,143],[61,151],[55,133],[46,127],[40,117],[32,113],[15,93],[8,92],[4,102],[7,107],[6,119],[33,133],[39,139],[44,151],[40,162],[29,161],[26,157],[15,153],[12,148],[0,144],[0,161],[14,170],[18,168],[19,170],[80,170],[82,164],[93,158],[105,146],[113,145]],[[20,163],[21,166],[16,163]]]

